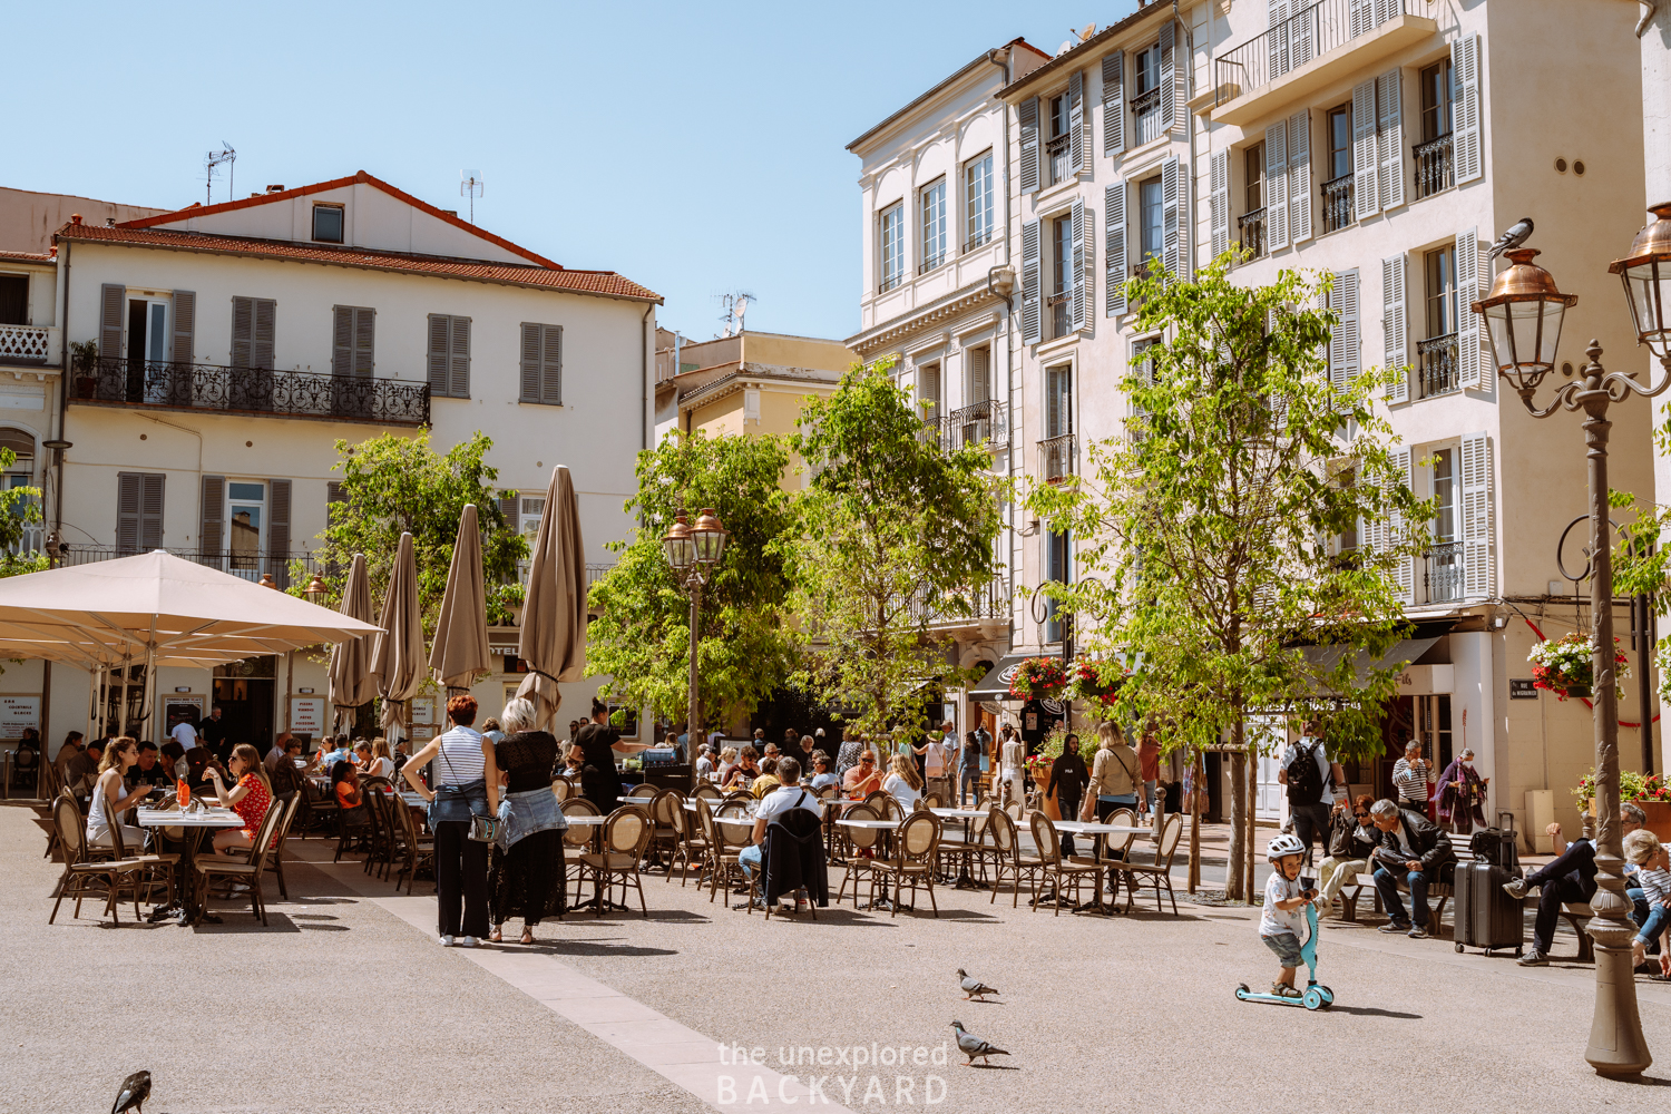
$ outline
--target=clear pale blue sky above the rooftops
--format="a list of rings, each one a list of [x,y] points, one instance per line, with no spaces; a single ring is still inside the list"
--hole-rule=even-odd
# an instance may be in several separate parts
[[[237,195],[368,170],[563,266],[660,292],[705,339],[859,321],[846,145],[989,47],[1054,53],[1133,10],[1059,3],[20,3],[0,184],[179,207],[232,144]],[[27,154],[33,152],[33,154]],[[227,182],[216,182],[216,200]]]

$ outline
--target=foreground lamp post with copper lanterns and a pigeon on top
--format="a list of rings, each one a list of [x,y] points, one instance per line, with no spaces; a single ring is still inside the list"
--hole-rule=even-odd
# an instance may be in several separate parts
[[[1609,271],[1624,281],[1638,344],[1648,344],[1664,374],[1656,386],[1643,386],[1629,374],[1608,372],[1601,366],[1601,346],[1589,342],[1589,362],[1579,377],[1554,391],[1542,409],[1532,401],[1539,382],[1556,366],[1561,324],[1566,311],[1577,302],[1576,294],[1562,294],[1547,271],[1532,262],[1536,251],[1509,252],[1511,267],[1492,282],[1491,294],[1472,304],[1486,319],[1491,361],[1497,376],[1521,396],[1534,418],[1547,418],[1557,409],[1584,411],[1584,443],[1589,456],[1589,549],[1591,570],[1591,668],[1594,673],[1596,730],[1596,897],[1594,919],[1587,932],[1596,940],[1596,1012],[1591,1019],[1589,1047],[1584,1059],[1602,1076],[1634,1076],[1653,1056],[1643,1037],[1636,1009],[1636,975],[1631,962],[1634,935],[1626,914],[1621,875],[1619,832],[1619,698],[1613,661],[1613,536],[1608,521],[1608,408],[1633,394],[1654,397],[1671,387],[1671,324],[1666,321],[1666,296],[1671,294],[1671,204],[1653,209],[1656,220],[1631,244],[1631,254]],[[1643,730],[1651,730],[1646,723]]]

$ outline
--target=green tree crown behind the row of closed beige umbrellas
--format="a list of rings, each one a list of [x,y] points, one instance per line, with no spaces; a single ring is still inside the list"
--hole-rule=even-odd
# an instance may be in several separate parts
[[[523,586],[516,561],[528,556],[528,539],[513,533],[500,511],[493,489],[498,469],[486,463],[493,441],[476,431],[470,441],[446,453],[429,446],[429,431],[418,436],[383,434],[349,444],[338,441],[343,498],[331,504],[331,519],[314,549],[329,601],[343,598],[348,570],[356,553],[366,554],[371,596],[381,601],[389,586],[401,533],[411,533],[418,561],[418,601],[424,628],[433,630],[434,613],[446,593],[453,565],[458,519],[466,503],[476,504],[483,531],[481,566],[488,585],[490,621],[508,620],[521,603]],[[515,494],[515,493],[506,493]],[[301,595],[309,576],[301,563],[291,568],[292,595]],[[381,606],[381,605],[379,605]]]

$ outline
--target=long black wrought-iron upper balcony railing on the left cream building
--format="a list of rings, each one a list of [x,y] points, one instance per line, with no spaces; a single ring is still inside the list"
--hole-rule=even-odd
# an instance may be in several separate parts
[[[221,367],[145,359],[100,359],[79,376],[72,401],[221,414],[276,414],[378,426],[428,426],[429,384],[371,376]]]

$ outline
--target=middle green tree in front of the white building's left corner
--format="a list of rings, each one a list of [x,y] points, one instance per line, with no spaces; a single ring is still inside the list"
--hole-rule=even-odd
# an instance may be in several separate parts
[[[854,366],[836,394],[802,411],[792,444],[812,473],[800,494],[805,531],[784,544],[794,610],[812,640],[797,683],[856,706],[869,732],[917,730],[924,681],[962,680],[931,620],[973,615],[999,571],[991,456],[942,449],[889,371]]]

